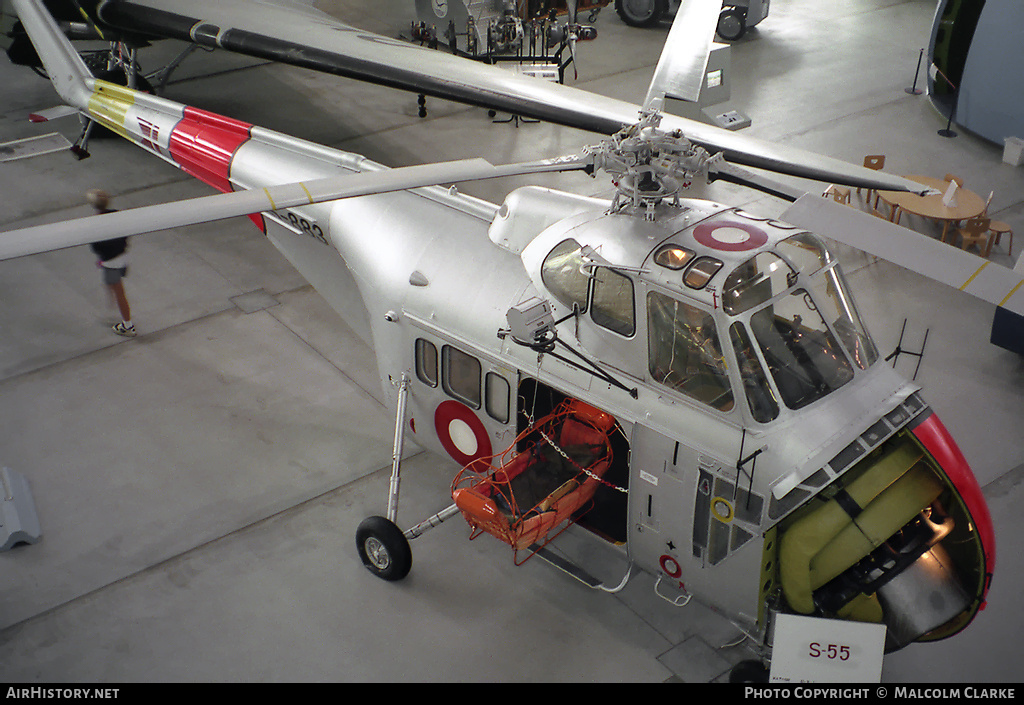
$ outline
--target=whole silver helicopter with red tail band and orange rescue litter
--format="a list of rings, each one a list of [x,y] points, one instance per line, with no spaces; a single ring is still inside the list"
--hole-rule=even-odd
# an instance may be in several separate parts
[[[462,514],[516,561],[579,524],[766,650],[780,613],[884,623],[896,649],[981,609],[994,537],[955,444],[880,364],[818,236],[682,195],[763,179],[662,129],[656,98],[581,155],[387,169],[92,79],[38,3],[15,4],[65,99],[230,193],[5,233],[0,252],[252,213],[332,305],[361,300],[396,417],[387,514],[357,533],[375,575],[400,580],[410,540]],[[607,171],[616,196],[527,186],[498,206],[434,185],[563,170]],[[813,196],[787,212],[842,231],[841,210]],[[401,531],[407,438],[463,471],[446,508]],[[512,485],[531,456],[580,471],[527,502]]]

